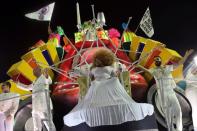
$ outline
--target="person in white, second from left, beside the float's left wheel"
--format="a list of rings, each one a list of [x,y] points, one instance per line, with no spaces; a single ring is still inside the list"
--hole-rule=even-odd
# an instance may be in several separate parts
[[[50,131],[56,131],[51,114],[51,110],[53,109],[52,102],[48,93],[49,84],[52,83],[52,80],[48,75],[48,71],[44,70],[42,72],[40,67],[34,69],[34,75],[37,77],[37,80],[33,82],[32,89],[32,117],[34,131],[42,131],[42,120],[44,119],[46,119],[44,123],[50,128]],[[48,106],[49,104],[50,106]]]

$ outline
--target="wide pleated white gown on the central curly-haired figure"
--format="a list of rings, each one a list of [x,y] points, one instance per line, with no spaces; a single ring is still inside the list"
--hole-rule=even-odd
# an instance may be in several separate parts
[[[90,127],[116,125],[138,121],[152,115],[150,104],[136,103],[125,91],[117,77],[111,77],[113,67],[97,67],[91,73],[95,80],[84,97],[64,116],[64,124],[76,126],[87,123]]]

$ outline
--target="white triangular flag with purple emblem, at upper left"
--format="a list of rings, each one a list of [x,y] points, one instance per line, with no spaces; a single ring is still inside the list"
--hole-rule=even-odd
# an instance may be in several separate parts
[[[39,9],[38,11],[35,11],[33,13],[25,14],[25,16],[30,19],[35,19],[35,20],[40,20],[40,21],[51,21],[54,5],[55,5],[55,2]]]

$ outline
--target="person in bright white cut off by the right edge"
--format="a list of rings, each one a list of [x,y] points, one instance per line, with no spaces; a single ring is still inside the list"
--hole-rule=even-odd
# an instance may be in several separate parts
[[[185,77],[186,90],[185,96],[192,106],[192,120],[194,131],[197,131],[197,67],[191,68]]]

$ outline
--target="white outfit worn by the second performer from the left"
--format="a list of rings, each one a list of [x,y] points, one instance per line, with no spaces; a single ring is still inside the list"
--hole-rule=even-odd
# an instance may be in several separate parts
[[[49,128],[51,126],[52,131],[56,131],[55,125],[52,121],[51,110],[53,105],[49,96],[49,85],[52,83],[50,77],[46,78],[43,74],[38,77],[31,85],[24,85],[22,83],[17,83],[17,85],[25,90],[32,90],[32,117],[34,124],[34,131],[42,130],[42,120],[49,119],[50,121],[43,121],[45,126]],[[47,96],[46,96],[47,95]],[[50,109],[48,109],[48,104],[50,104]],[[49,116],[48,116],[49,115]]]

